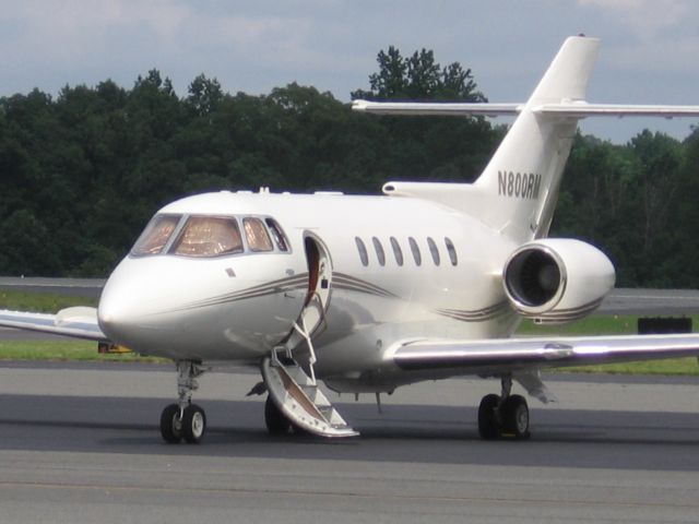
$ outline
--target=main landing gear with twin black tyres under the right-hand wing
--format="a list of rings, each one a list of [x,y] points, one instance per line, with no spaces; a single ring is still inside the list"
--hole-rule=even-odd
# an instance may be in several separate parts
[[[500,395],[485,395],[478,406],[478,432],[485,440],[501,437],[528,439],[529,407],[521,395],[511,395],[512,376],[506,374],[500,379],[502,392]]]

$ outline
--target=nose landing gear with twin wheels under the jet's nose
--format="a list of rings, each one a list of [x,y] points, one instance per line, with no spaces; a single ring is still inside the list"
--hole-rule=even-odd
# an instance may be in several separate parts
[[[199,389],[197,381],[206,370],[191,360],[177,361],[177,404],[170,404],[161,415],[161,434],[165,442],[198,444],[206,431],[206,415],[192,404],[192,392]]]

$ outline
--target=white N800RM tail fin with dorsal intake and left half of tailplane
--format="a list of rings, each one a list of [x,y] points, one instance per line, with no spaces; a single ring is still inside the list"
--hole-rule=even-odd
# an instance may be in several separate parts
[[[582,108],[599,40],[568,38],[524,105],[495,105],[495,115],[519,114],[481,177],[473,183],[389,182],[387,194],[434,200],[481,219],[524,242],[545,237],[556,206],[560,178],[576,134],[579,114],[546,112],[560,106]],[[388,106],[388,107],[387,107]],[[455,106],[455,105],[454,105]],[[483,105],[370,104],[356,109],[389,114],[488,114]],[[478,112],[479,111],[479,112]]]

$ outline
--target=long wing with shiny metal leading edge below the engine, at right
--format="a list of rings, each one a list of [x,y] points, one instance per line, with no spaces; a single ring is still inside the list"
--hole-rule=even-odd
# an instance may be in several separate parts
[[[476,374],[699,356],[699,334],[415,341],[386,357],[403,370]],[[447,373],[445,373],[447,374]]]

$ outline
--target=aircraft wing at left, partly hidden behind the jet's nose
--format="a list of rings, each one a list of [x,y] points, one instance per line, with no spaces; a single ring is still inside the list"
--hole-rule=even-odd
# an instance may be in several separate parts
[[[95,308],[67,308],[56,314],[0,310],[0,326],[107,342]]]

